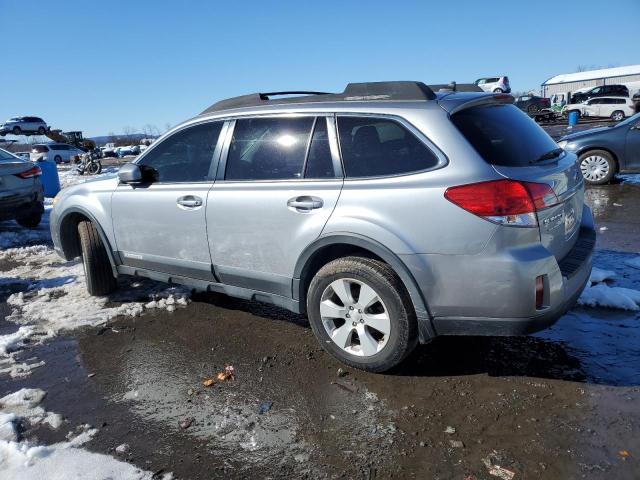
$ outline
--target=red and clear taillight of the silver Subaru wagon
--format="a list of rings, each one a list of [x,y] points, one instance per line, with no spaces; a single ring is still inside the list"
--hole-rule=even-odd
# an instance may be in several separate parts
[[[514,227],[537,227],[536,212],[558,203],[547,184],[506,179],[450,187],[444,196],[485,220]]]

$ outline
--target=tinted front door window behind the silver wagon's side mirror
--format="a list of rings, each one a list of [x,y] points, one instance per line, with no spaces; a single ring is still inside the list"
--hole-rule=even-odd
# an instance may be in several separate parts
[[[138,165],[150,167],[158,182],[203,182],[209,179],[222,122],[187,127],[164,139]]]

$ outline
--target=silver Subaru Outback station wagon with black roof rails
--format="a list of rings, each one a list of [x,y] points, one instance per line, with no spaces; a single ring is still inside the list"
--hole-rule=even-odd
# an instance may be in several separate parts
[[[61,192],[53,241],[82,257],[89,293],[133,275],[269,302],[370,371],[573,306],[595,245],[584,181],[511,96],[294,93],[218,102],[117,176]]]

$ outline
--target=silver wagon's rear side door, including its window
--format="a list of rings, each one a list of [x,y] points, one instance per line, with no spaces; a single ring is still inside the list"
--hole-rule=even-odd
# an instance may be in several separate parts
[[[237,119],[207,201],[223,283],[291,296],[296,262],[318,238],[342,189],[333,117]]]

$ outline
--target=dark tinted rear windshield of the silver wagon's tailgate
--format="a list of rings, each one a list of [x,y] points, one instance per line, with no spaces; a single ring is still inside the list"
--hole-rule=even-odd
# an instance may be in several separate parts
[[[514,105],[469,108],[451,119],[491,165],[528,166],[558,148],[542,128]]]

